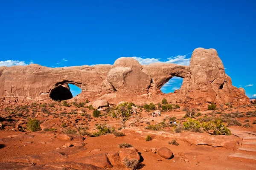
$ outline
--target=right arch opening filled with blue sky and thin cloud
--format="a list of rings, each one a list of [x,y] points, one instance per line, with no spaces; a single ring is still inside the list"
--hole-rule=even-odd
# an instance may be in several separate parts
[[[179,90],[183,83],[183,78],[181,77],[172,77],[166,82],[160,89],[162,93],[169,94],[173,93],[175,90]]]

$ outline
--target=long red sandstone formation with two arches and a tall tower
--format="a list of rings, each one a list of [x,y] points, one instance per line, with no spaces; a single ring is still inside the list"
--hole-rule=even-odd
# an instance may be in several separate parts
[[[160,88],[172,77],[183,78],[180,89],[163,94]],[[78,101],[106,99],[113,104],[121,101],[143,104],[166,98],[181,105],[250,103],[244,89],[232,85],[217,51],[212,48],[196,48],[189,66],[161,62],[140,65],[131,57],[121,57],[113,65],[0,67],[2,103],[70,99],[68,83],[81,88],[81,94],[72,98]]]

